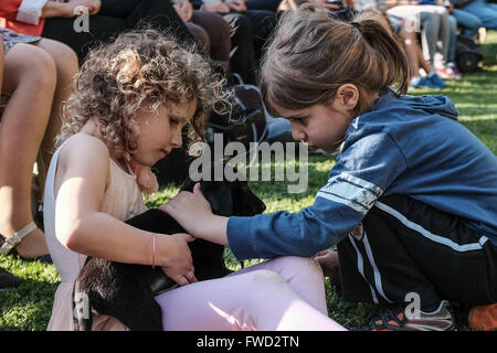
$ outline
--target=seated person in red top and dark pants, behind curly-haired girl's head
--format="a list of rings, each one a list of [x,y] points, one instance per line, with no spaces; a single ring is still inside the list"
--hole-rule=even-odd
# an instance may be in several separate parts
[[[84,12],[89,14],[88,31],[82,25],[82,31],[76,32],[75,17]],[[15,25],[12,29],[18,32],[67,44],[76,52],[80,62],[99,41],[107,41],[139,25],[170,30],[182,41],[195,43],[169,0],[2,0],[2,17],[9,25]]]

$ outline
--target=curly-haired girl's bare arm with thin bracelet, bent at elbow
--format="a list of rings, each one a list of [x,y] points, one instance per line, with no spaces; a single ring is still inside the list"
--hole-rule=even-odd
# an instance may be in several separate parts
[[[60,154],[55,182],[55,233],[73,252],[113,261],[151,265],[154,235],[101,212],[109,175],[108,150],[102,141],[80,138]],[[194,281],[188,234],[156,235],[155,264],[180,285]],[[191,274],[190,274],[191,272]]]

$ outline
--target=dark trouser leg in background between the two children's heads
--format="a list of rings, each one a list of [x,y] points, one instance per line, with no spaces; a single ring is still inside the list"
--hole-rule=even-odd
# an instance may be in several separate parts
[[[276,15],[262,10],[220,14],[231,29],[231,71],[240,74],[244,83],[255,85],[263,46],[276,28]]]

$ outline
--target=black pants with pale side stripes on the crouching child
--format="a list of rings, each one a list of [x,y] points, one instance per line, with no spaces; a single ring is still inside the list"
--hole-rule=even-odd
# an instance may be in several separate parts
[[[348,301],[406,304],[413,292],[426,312],[441,300],[497,301],[497,247],[461,218],[406,196],[381,197],[338,254]]]

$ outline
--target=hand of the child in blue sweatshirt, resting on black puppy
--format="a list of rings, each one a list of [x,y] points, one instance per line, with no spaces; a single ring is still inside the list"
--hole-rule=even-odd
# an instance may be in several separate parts
[[[211,205],[200,191],[200,184],[193,186],[193,192],[182,191],[169,203],[159,207],[170,214],[191,235],[205,240],[228,245],[228,217],[216,216]]]

